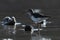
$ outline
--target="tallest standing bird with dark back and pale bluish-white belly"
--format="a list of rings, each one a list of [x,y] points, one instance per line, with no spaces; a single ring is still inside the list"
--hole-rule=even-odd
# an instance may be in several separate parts
[[[46,26],[46,20],[51,18],[50,16],[45,16],[39,14],[38,12],[34,12],[33,9],[28,9],[27,14],[35,24],[43,24],[44,26]]]

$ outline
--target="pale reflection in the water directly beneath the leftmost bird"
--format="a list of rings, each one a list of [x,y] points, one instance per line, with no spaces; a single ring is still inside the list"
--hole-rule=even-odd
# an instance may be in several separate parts
[[[6,31],[6,34],[16,34],[16,25],[3,25],[3,30]]]

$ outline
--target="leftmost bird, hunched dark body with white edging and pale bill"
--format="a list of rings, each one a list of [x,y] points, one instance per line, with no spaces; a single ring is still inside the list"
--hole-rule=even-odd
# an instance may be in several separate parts
[[[21,23],[17,23],[16,18],[14,16],[6,16],[2,20],[2,25],[18,25]]]

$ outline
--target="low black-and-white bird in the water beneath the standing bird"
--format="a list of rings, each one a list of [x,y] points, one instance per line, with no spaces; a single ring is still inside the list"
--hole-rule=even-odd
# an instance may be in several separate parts
[[[24,32],[30,32],[31,34],[33,34],[35,31],[43,30],[43,29],[34,28],[34,26],[32,25],[22,25],[22,27],[24,27],[24,29],[19,29],[19,30],[22,30]]]

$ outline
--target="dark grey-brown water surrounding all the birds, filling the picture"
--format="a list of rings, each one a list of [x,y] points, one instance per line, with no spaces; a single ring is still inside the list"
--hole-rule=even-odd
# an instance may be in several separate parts
[[[0,22],[5,16],[15,16],[18,22],[31,24],[32,21],[26,16],[25,10],[29,8],[42,9],[42,13],[49,15],[51,24],[47,24],[42,31],[20,31],[17,26],[16,34],[11,34],[14,26],[2,26],[0,23],[0,40],[60,40],[60,0],[0,0]]]

